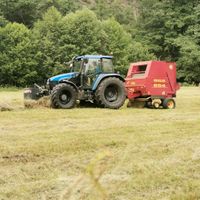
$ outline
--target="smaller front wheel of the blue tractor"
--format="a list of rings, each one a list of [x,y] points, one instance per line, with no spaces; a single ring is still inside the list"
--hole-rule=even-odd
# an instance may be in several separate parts
[[[53,88],[51,94],[51,107],[69,109],[76,105],[77,91],[66,83],[61,83]]]

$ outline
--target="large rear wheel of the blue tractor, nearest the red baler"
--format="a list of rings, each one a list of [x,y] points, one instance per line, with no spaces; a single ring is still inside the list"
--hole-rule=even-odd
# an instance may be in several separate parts
[[[116,77],[104,79],[95,92],[95,100],[100,107],[120,108],[126,100],[124,83]]]

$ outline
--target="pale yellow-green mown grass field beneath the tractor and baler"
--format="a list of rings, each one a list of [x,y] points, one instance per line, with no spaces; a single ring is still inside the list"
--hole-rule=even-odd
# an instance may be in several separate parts
[[[0,200],[200,199],[200,88],[175,110],[23,109],[0,90]]]

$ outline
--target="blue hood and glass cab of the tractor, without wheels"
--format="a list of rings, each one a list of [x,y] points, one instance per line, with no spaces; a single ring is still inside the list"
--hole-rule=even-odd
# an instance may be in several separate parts
[[[76,56],[70,62],[70,73],[59,74],[48,79],[50,90],[60,82],[70,81],[82,89],[92,89],[101,74],[114,73],[112,56]]]

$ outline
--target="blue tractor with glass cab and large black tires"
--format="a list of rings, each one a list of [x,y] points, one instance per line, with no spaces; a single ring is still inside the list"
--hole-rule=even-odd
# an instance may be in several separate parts
[[[53,108],[69,109],[80,102],[118,109],[126,99],[124,79],[114,72],[112,56],[76,56],[69,63],[71,72],[51,77],[46,89],[36,96],[50,94]]]

